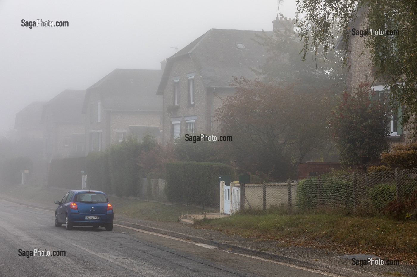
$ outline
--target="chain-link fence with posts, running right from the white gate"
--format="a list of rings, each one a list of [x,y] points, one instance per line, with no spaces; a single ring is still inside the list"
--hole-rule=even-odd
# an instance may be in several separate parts
[[[256,209],[281,207],[297,212],[374,215],[397,199],[412,210],[417,206],[417,170],[249,184],[245,194],[245,207]]]

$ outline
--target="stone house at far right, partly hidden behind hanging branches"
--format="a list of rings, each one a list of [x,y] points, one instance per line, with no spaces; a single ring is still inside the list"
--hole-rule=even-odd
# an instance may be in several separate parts
[[[339,38],[336,45],[337,50],[345,50],[348,55],[349,71],[347,73],[347,91],[352,92],[354,88],[359,86],[360,82],[369,82],[374,90],[374,99],[387,99],[390,93],[389,87],[386,89],[383,81],[374,81],[374,75],[371,65],[371,54],[369,49],[365,48],[366,35],[360,35],[360,32],[367,30],[366,26],[366,7],[359,7],[356,10],[356,18],[352,18],[349,22],[349,42],[346,44]],[[357,34],[353,35],[354,32]],[[389,123],[391,131],[387,138],[389,143],[407,143],[410,138],[410,133],[407,128],[401,124],[401,115],[403,111],[402,106],[397,106],[397,109],[392,111],[392,121]]]

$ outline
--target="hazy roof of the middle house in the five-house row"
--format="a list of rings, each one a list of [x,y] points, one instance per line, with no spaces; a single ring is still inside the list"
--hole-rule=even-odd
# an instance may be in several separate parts
[[[105,110],[161,111],[162,98],[155,95],[161,76],[162,70],[115,69],[87,89],[83,113],[95,89]]]

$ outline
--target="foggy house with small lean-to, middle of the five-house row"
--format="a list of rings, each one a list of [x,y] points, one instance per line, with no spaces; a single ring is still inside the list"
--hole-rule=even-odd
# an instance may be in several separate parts
[[[161,136],[162,98],[155,94],[162,70],[115,69],[86,90],[86,153],[105,150],[129,136]]]

